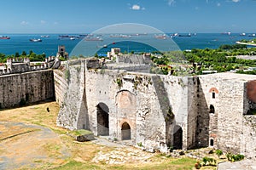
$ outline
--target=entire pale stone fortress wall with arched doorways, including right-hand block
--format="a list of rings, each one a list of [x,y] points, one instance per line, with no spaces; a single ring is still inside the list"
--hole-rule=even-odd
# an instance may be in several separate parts
[[[247,115],[255,102],[247,97],[247,83],[256,77],[172,77],[87,69],[85,60],[76,62],[66,70],[59,126],[161,151],[210,146],[255,158],[256,119]]]

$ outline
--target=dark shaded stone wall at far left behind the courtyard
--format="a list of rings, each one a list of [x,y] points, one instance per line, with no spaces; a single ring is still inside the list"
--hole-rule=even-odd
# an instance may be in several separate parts
[[[0,89],[2,108],[54,99],[53,71],[32,71],[0,76]]]

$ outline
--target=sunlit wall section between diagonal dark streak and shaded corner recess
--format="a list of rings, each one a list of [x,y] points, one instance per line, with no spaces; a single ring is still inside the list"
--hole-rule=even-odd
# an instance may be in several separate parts
[[[171,140],[174,149],[181,149],[177,146],[182,144],[183,149],[195,147],[195,122],[197,109],[195,105],[195,82],[194,77],[172,77],[162,76],[165,82],[166,96],[172,105],[172,112],[175,116],[172,122],[170,133],[167,139]],[[176,133],[182,131],[182,140]]]

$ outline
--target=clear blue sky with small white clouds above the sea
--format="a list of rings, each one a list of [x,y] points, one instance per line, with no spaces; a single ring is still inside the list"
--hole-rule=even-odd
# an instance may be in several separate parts
[[[256,0],[0,0],[0,33],[88,33],[119,23],[165,32],[256,32]]]

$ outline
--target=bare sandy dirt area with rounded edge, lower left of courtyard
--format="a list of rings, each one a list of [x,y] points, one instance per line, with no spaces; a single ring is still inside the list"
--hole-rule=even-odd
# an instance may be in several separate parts
[[[0,122],[0,127],[0,169],[44,168],[45,163],[54,165],[69,156],[59,136],[47,127],[20,122]]]

